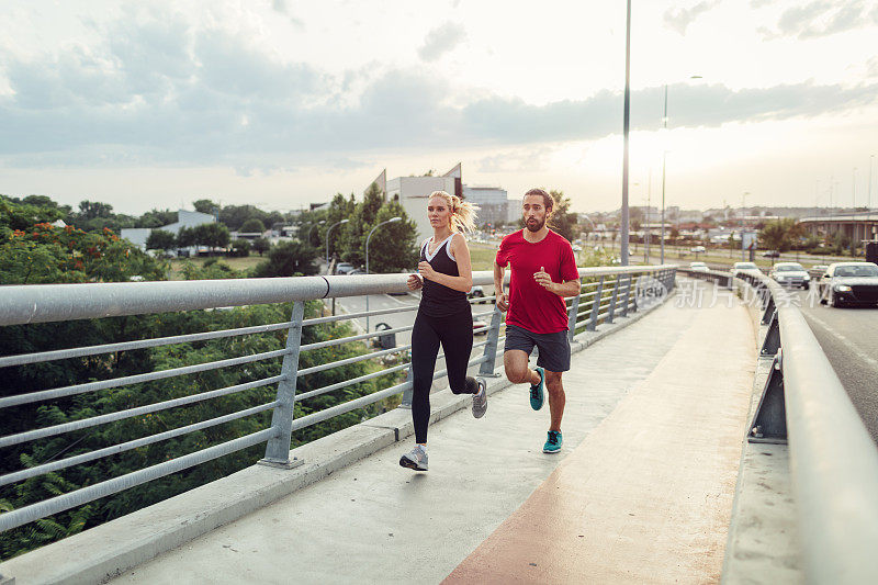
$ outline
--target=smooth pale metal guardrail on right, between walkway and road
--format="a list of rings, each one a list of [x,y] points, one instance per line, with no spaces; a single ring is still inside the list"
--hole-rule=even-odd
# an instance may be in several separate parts
[[[748,437],[788,440],[806,578],[878,583],[878,449],[790,293],[763,274],[739,279],[757,293],[761,357],[773,360]]]

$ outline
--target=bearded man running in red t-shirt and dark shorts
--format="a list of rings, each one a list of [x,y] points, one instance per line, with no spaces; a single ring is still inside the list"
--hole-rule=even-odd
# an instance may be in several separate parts
[[[509,234],[500,243],[494,260],[494,290],[497,306],[506,313],[506,347],[503,364],[514,384],[530,383],[530,406],[542,408],[543,389],[549,391],[551,423],[542,450],[561,450],[561,418],[564,416],[562,372],[570,370],[567,305],[565,296],[579,293],[579,271],[570,241],[545,225],[552,216],[554,199],[542,189],[525,194],[525,229]],[[511,269],[509,294],[503,292],[506,267]],[[537,369],[528,368],[533,346],[540,350]]]

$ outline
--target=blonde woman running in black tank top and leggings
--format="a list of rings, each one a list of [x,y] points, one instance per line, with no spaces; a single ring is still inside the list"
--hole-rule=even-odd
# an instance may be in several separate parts
[[[485,382],[466,375],[473,349],[473,314],[466,293],[473,285],[470,248],[461,232],[475,227],[477,207],[444,191],[435,191],[427,202],[434,235],[420,246],[418,274],[408,277],[408,288],[424,289],[412,330],[412,420],[415,448],[399,464],[427,471],[427,424],[430,418],[430,385],[439,345],[446,353],[448,382],[454,394],[473,394],[473,416],[487,409]]]

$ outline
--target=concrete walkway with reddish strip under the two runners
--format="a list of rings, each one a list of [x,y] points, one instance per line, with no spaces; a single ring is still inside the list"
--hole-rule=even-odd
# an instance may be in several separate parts
[[[395,445],[116,581],[716,582],[755,368],[727,294],[574,355],[560,455],[513,386],[430,427],[428,473]]]

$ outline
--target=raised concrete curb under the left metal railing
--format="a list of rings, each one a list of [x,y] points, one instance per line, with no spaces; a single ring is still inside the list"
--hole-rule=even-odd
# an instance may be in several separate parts
[[[667,302],[674,291],[646,310],[617,317],[599,331],[574,338],[577,352],[623,329]],[[502,349],[498,355],[502,353]],[[502,367],[502,365],[500,365]],[[488,378],[488,394],[511,384]],[[448,390],[430,396],[430,423],[469,407],[469,395]],[[105,583],[159,554],[223,525],[235,521],[333,472],[401,441],[414,434],[410,410],[397,408],[353,427],[334,432],[290,451],[304,463],[292,470],[252,465],[147,508],[91,528],[65,540],[0,564],[0,574],[18,585],[32,583]]]

